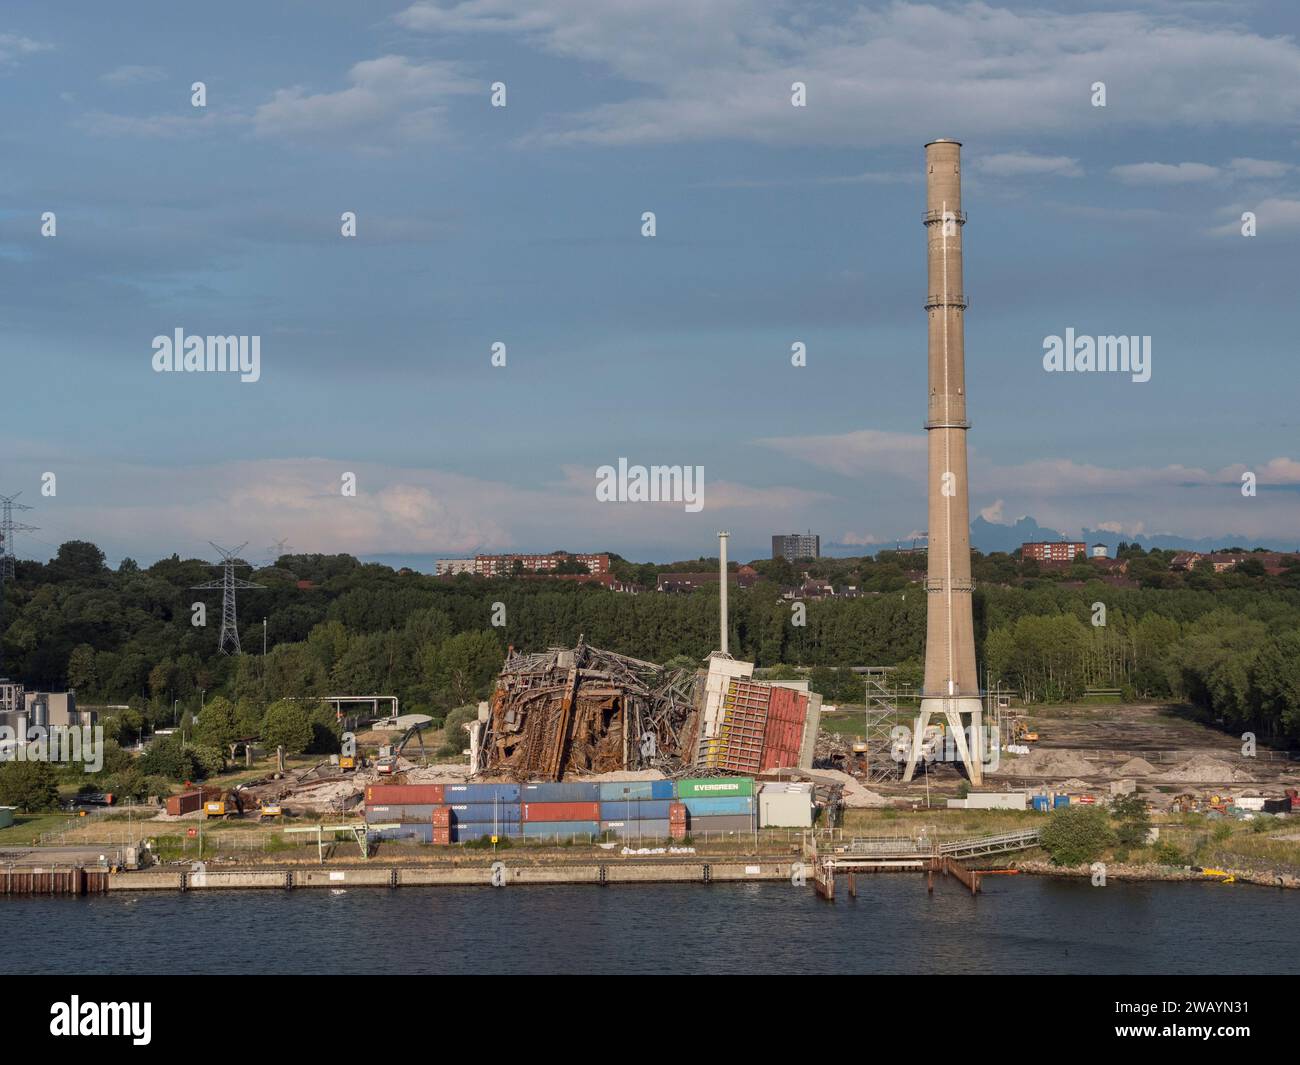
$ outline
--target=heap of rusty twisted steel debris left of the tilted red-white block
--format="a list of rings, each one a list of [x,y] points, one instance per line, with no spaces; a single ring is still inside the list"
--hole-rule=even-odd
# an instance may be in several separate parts
[[[666,670],[581,640],[572,649],[511,650],[474,770],[516,780],[681,774],[696,740],[696,685],[693,670]]]

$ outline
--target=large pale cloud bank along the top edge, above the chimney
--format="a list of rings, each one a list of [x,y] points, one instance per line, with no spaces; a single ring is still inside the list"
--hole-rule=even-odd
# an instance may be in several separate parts
[[[603,68],[629,99],[560,116],[552,142],[693,139],[919,143],[931,137],[1060,137],[1108,127],[1275,127],[1300,118],[1300,47],[1213,8],[1052,12],[987,3],[861,7],[780,0],[420,0],[396,21],[437,34],[514,35]],[[941,70],[942,77],[935,77]],[[806,108],[790,83],[807,85]],[[1110,107],[1091,107],[1106,82]]]

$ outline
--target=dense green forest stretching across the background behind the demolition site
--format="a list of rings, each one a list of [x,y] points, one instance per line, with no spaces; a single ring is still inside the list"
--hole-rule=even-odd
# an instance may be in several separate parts
[[[1300,570],[1182,575],[1158,551],[1126,549],[1126,557],[1140,586],[1104,584],[1087,563],[1043,572],[1010,555],[976,554],[982,671],[1028,701],[1122,688],[1186,700],[1230,727],[1300,737]],[[655,571],[710,564],[616,559],[615,568],[653,588]],[[731,598],[737,657],[814,667],[814,684],[840,701],[861,698],[849,666],[896,664],[900,676],[916,676],[923,558],[822,559],[797,572],[780,559],[753,564],[762,579]],[[806,624],[796,625],[780,590],[805,571],[864,594],[811,601]],[[385,693],[403,710],[442,717],[489,692],[508,645],[537,650],[584,636],[680,664],[718,642],[707,590],[620,594],[549,579],[441,579],[348,555],[285,555],[251,576],[264,588],[239,593],[244,654],[228,657],[217,653],[220,592],[191,590],[212,579],[207,563],[173,555],[148,568],[127,559],[114,571],[94,545],[65,544],[48,563],[20,562],[5,586],[3,672],[29,688],[75,688],[83,703],[130,703],[150,726],[216,696],[264,713],[287,697]],[[191,624],[200,601],[202,628]],[[497,603],[502,625],[493,625]],[[1093,624],[1096,603],[1105,606],[1104,625]]]

